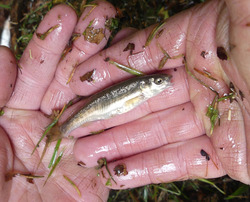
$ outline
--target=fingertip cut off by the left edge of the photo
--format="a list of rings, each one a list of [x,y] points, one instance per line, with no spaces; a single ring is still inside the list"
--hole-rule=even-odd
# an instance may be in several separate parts
[[[12,52],[4,47],[0,46],[0,109],[6,105],[9,101],[10,96],[13,92],[17,68],[16,68],[16,59]]]

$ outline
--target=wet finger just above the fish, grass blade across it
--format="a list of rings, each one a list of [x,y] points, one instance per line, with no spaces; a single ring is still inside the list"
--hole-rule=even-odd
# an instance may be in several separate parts
[[[107,58],[120,64],[131,66],[144,73],[157,71],[160,60],[164,57],[163,51],[159,48],[158,44],[160,44],[170,56],[184,53],[187,22],[188,18],[180,18],[180,15],[169,19],[161,29],[160,36],[154,37],[147,47],[145,47],[145,43],[154,26],[139,31],[131,37],[102,51],[100,54],[95,55],[82,63],[76,70],[70,82],[72,90],[78,95],[89,95],[101,88],[105,88],[132,76],[120,70],[115,65],[109,64],[106,60]],[[134,44],[134,50],[131,55],[130,51],[124,50],[128,44]],[[169,60],[164,66],[164,69],[181,65],[182,59]],[[82,82],[80,77],[93,69],[95,69],[95,73],[92,77],[93,82]]]

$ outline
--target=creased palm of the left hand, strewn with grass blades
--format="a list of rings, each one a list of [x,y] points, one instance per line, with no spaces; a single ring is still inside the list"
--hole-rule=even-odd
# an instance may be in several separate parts
[[[8,159],[9,162],[13,162],[13,168],[16,172],[32,173],[34,175],[44,175],[46,178],[49,169],[47,168],[50,157],[52,156],[52,149],[49,149],[44,161],[37,169],[37,163],[39,162],[43,146],[38,149],[39,152],[35,152],[31,156],[31,152],[34,148],[34,143],[37,142],[39,136],[42,133],[42,129],[48,124],[49,120],[39,111],[29,110],[5,110],[4,120],[2,120],[2,126],[8,132],[8,137],[12,143],[13,151],[7,147],[8,155],[13,154],[13,161]],[[13,118],[11,118],[13,117]],[[11,124],[9,118],[11,119]],[[6,121],[6,124],[5,124]],[[1,134],[4,135],[4,134]],[[59,164],[55,173],[47,184],[43,186],[45,179],[35,179],[35,184],[29,184],[23,177],[14,177],[6,186],[10,186],[9,190],[11,194],[10,201],[51,201],[51,200],[87,200],[95,201],[101,198],[106,198],[108,194],[107,188],[101,183],[97,177],[95,169],[85,169],[76,165],[72,153],[72,145],[70,142],[64,142],[61,146],[66,147],[63,160]],[[2,165],[8,165],[1,162]],[[8,168],[2,168],[1,173],[4,175],[11,171],[12,166],[8,165]],[[81,190],[82,198],[80,198],[77,192],[74,190],[64,178],[66,175],[74,183],[77,184]],[[32,191],[30,191],[32,190]],[[1,194],[3,196],[3,194]]]

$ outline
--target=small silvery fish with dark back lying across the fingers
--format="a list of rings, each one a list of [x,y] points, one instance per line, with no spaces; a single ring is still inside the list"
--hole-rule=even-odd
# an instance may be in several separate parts
[[[67,137],[83,124],[126,113],[171,85],[171,75],[153,74],[134,77],[92,95],[85,105],[63,124],[54,126],[49,142]]]

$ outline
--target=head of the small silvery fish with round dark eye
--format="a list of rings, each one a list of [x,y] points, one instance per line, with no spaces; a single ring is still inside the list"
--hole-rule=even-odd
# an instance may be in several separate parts
[[[153,97],[171,85],[172,76],[168,74],[148,75],[140,82],[140,88],[145,97]]]

